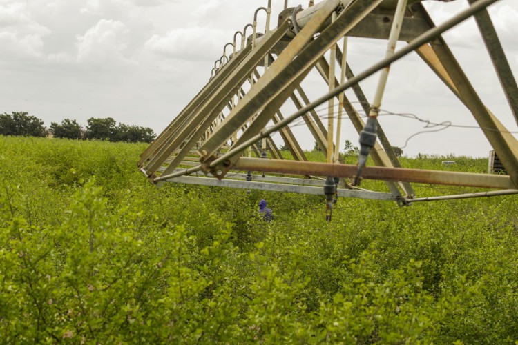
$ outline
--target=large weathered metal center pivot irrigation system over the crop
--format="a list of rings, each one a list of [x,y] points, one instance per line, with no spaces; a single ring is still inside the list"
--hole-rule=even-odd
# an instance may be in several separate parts
[[[518,193],[518,141],[483,104],[441,36],[474,17],[518,124],[517,83],[487,10],[498,0],[457,1],[467,1],[470,6],[440,26],[433,23],[419,0],[310,1],[305,10],[302,6],[287,8],[285,1],[278,26],[271,30],[270,0],[267,8],[256,10],[253,24],[244,26],[224,45],[207,85],[142,154],[140,169],[159,185],[167,181],[322,194],[329,220],[336,197],[392,200],[405,206],[416,201]],[[267,14],[264,33],[258,32],[257,25],[261,11]],[[384,39],[387,50],[378,63],[354,75],[347,46],[357,37]],[[407,44],[396,50],[398,41]],[[471,112],[508,175],[401,168],[378,115],[390,64],[410,52],[416,52]],[[374,99],[369,101],[359,83],[376,72],[379,80]],[[309,76],[323,80],[325,95],[309,99],[302,87]],[[352,92],[358,102],[349,99]],[[281,109],[288,103],[296,111],[285,117]],[[361,105],[359,109],[355,104]],[[327,126],[319,116],[322,112],[318,113],[322,106],[326,107]],[[366,121],[361,112],[368,115]],[[345,116],[359,135],[356,165],[344,164],[338,152]],[[327,157],[325,163],[309,161],[300,148],[293,130],[297,122],[307,126]],[[277,133],[293,159],[282,156],[272,139]],[[369,155],[375,166],[366,166]],[[388,193],[359,188],[361,179],[385,181]],[[490,190],[419,199],[411,183]]]

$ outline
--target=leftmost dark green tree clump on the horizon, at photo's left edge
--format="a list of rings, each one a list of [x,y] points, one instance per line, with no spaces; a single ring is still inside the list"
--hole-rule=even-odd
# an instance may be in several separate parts
[[[27,112],[12,112],[0,115],[0,135],[21,135],[24,137],[46,137],[44,122]]]

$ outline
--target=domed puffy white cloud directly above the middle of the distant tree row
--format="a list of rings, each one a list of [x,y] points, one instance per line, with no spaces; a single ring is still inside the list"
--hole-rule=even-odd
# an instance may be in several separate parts
[[[133,64],[124,57],[128,28],[120,21],[102,19],[77,37],[77,62],[104,65]]]

